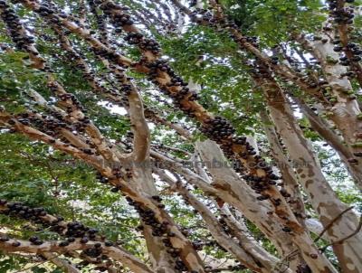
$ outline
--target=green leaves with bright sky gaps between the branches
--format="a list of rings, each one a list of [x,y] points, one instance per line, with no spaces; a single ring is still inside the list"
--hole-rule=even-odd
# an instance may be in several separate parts
[[[80,1],[54,1],[70,13],[79,10]],[[155,11],[157,5],[145,4],[142,1],[119,1],[129,5],[133,11],[139,7]],[[303,33],[315,33],[317,28],[326,20],[327,10],[324,1],[317,0],[223,0],[220,1],[227,9],[227,13],[236,24],[249,36],[257,36],[261,41],[262,50],[276,45],[290,42],[291,32],[298,29]],[[19,6],[17,13],[25,18],[30,16]],[[100,12],[100,11],[99,11]],[[90,19],[94,20],[94,19]],[[357,18],[357,26],[361,24]],[[89,22],[95,28],[95,22]],[[31,24],[40,22],[33,20]],[[2,32],[0,42],[14,44],[5,35],[5,26],[0,23]],[[40,30],[45,36],[52,36],[52,31],[43,27]],[[110,32],[114,31],[110,27]],[[356,31],[357,33],[360,30]],[[229,35],[215,32],[212,28],[187,23],[183,33],[159,33],[157,28],[148,31],[148,35],[157,38],[164,52],[177,74],[184,79],[196,83],[202,89],[198,90],[199,102],[215,116],[228,119],[236,128],[237,135],[258,136],[261,143],[266,145],[262,122],[259,114],[265,108],[262,94],[250,78],[251,56],[240,52],[238,46]],[[94,60],[87,45],[71,36],[74,47],[88,58],[91,69],[96,75],[103,75],[104,65]],[[116,36],[116,41],[121,37]],[[90,109],[88,115],[94,124],[100,128],[104,136],[108,136],[115,145],[128,139],[131,128],[129,117],[119,114],[115,105],[90,92],[90,85],[83,79],[81,71],[74,68],[71,62],[63,55],[57,42],[49,42],[44,36],[37,41],[39,51],[50,63],[56,80],[67,87],[81,104]],[[293,47],[293,45],[289,45]],[[296,49],[295,46],[293,49]],[[138,60],[140,52],[135,48],[121,48],[132,60]],[[271,54],[272,52],[268,52]],[[28,66],[29,56],[19,50],[0,52],[0,101],[7,111],[23,112],[24,109],[35,108],[46,112],[42,106],[33,105],[28,94],[36,90],[45,99],[54,100],[46,88],[46,74]],[[129,73],[138,83],[142,97],[148,108],[155,108],[168,121],[177,121],[193,133],[195,139],[202,136],[197,130],[197,123],[185,114],[170,106],[170,100],[164,94],[155,91],[155,86],[143,79],[138,73]],[[104,76],[104,75],[103,75]],[[102,82],[111,87],[114,79],[104,76]],[[291,91],[294,91],[291,88]],[[295,90],[298,93],[300,90]],[[155,95],[156,94],[156,95]],[[160,100],[165,101],[161,102]],[[299,114],[299,113],[298,113]],[[298,115],[297,114],[297,115]],[[313,143],[314,151],[318,154],[324,174],[329,179],[341,201],[356,206],[356,211],[362,212],[362,198],[358,195],[351,178],[341,160],[319,135],[310,128],[306,118],[299,118],[300,127],[304,136]],[[153,144],[173,146],[178,149],[194,152],[192,143],[183,142],[168,127],[152,125],[151,136]],[[172,155],[187,160],[187,156],[173,152]],[[270,158],[269,158],[270,159]],[[176,223],[190,231],[190,239],[197,241],[211,240],[210,232],[205,229],[201,217],[193,208],[179,196],[171,193],[166,184],[158,184],[158,190],[164,196],[167,212]],[[197,189],[192,193],[206,202],[205,195]],[[303,193],[305,194],[305,193]],[[80,160],[53,150],[50,146],[38,141],[31,141],[18,134],[9,134],[8,130],[0,128],[0,199],[20,201],[29,206],[42,206],[54,215],[62,215],[68,221],[82,221],[105,234],[110,240],[119,240],[122,246],[144,261],[148,261],[145,254],[146,245],[141,233],[136,231],[139,225],[135,212],[119,193],[110,193],[105,185],[98,183],[95,171]],[[214,212],[215,208],[210,205]],[[310,215],[315,212],[306,203]],[[220,216],[217,214],[217,216]],[[249,232],[256,241],[274,255],[278,255],[275,247],[262,232],[246,221]],[[0,215],[0,226],[8,228],[22,238],[38,234],[43,239],[59,239],[51,231],[26,230],[26,221],[15,221],[13,218]],[[224,249],[213,244],[205,247],[205,255],[213,259],[231,259]],[[329,258],[336,261],[332,251]],[[337,262],[336,262],[337,263]],[[11,272],[24,268],[28,264],[23,257],[2,255],[0,257],[0,271]],[[89,268],[88,268],[89,269]],[[85,269],[85,270],[88,270]],[[57,271],[58,270],[58,271]],[[32,272],[61,272],[59,268],[34,267]],[[86,272],[86,271],[84,271]],[[243,271],[248,272],[248,271]]]

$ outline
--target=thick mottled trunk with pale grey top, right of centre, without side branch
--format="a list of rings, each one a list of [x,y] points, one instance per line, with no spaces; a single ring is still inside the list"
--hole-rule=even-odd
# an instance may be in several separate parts
[[[271,205],[258,201],[257,195],[245,181],[231,167],[225,166],[226,159],[219,146],[214,141],[206,140],[196,143],[196,149],[213,176],[211,185],[217,190],[217,197],[243,212],[273,242],[281,255],[293,251],[291,237],[281,231],[281,223],[275,215],[271,215]]]

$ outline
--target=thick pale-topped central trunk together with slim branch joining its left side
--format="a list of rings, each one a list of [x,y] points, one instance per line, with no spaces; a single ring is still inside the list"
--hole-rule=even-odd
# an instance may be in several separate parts
[[[166,163],[177,174],[183,175],[189,183],[194,184],[204,193],[230,203],[243,212],[274,243],[281,255],[290,253],[293,249],[291,238],[287,233],[281,231],[283,226],[276,215],[272,213],[271,205],[267,202],[258,201],[258,195],[252,191],[245,181],[233,169],[225,166],[226,159],[220,148],[213,141],[205,141],[205,143],[196,143],[196,149],[203,162],[207,163],[205,164],[207,170],[213,176],[212,184],[210,184],[209,180],[205,180],[183,167],[182,164],[167,159],[166,156],[153,151],[151,154]]]

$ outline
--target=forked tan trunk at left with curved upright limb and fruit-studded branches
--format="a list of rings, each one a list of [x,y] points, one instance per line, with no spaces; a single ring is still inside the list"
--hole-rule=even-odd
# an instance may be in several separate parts
[[[39,5],[37,3],[30,3],[26,2],[28,6],[31,6],[32,8],[37,8]],[[72,24],[71,24],[72,25]],[[99,42],[96,40],[96,42]],[[70,42],[66,40],[65,37],[62,38],[63,47],[67,47],[68,51],[71,51]],[[36,49],[30,48],[33,52],[37,52]],[[31,57],[32,58],[32,57]],[[37,52],[36,55],[37,59],[42,59],[40,57],[39,52]],[[43,59],[42,59],[43,60]],[[45,61],[43,61],[45,62]],[[153,203],[150,200],[150,195],[152,191],[155,192],[156,195],[156,189],[153,184],[153,178],[151,174],[151,169],[149,168],[148,161],[149,161],[149,130],[148,125],[146,122],[146,119],[144,117],[144,109],[141,102],[141,99],[138,95],[137,88],[125,77],[121,70],[119,71],[113,71],[116,73],[116,76],[119,76],[119,79],[121,80],[122,84],[125,84],[129,88],[128,98],[129,98],[129,114],[130,119],[132,122],[132,125],[134,127],[134,151],[132,155],[130,155],[130,158],[132,159],[132,180],[135,182],[134,185],[125,186],[126,181],[124,181],[124,176],[121,175],[121,181],[119,179],[114,179],[113,172],[117,170],[119,172],[120,169],[120,161],[119,156],[117,156],[116,153],[114,153],[109,146],[109,142],[107,139],[100,134],[100,130],[95,127],[91,121],[88,122],[88,125],[86,126],[86,132],[87,135],[90,137],[91,142],[94,144],[94,146],[97,148],[97,151],[99,154],[103,157],[105,162],[101,162],[100,160],[98,162],[94,162],[93,160],[89,161],[91,162],[91,165],[96,166],[97,169],[100,171],[101,174],[105,175],[106,177],[110,177],[113,180],[113,183],[115,183],[116,186],[120,187],[119,184],[123,184],[122,189],[123,193],[125,193],[125,188],[129,190],[129,192],[126,190],[126,192],[129,193],[129,197],[132,198],[132,200],[139,202],[140,200],[143,200],[140,202],[142,205],[144,205],[148,210],[151,210],[153,212],[158,211],[157,217],[158,221],[160,222],[167,222],[167,225],[169,225],[169,229],[172,231],[176,231],[175,238],[171,239],[173,246],[177,249],[180,249],[180,257],[184,260],[184,263],[188,268],[195,269],[197,272],[203,272],[203,264],[202,260],[198,257],[195,249],[193,249],[192,244],[186,240],[185,236],[178,231],[176,224],[171,220],[171,218],[167,215],[167,212],[161,210],[157,207],[157,204]],[[52,80],[52,73],[48,73],[48,76],[50,78],[50,84],[55,91],[55,93],[58,96],[67,95],[65,89],[63,89],[62,85]],[[71,99],[62,99],[60,102],[60,105],[64,108],[71,108],[70,116],[75,121],[81,121],[85,118],[85,115],[81,112],[81,110],[77,107],[74,107],[73,101]],[[5,117],[5,122],[9,119],[9,117]],[[20,123],[17,123],[17,129],[25,133],[27,136],[32,136],[35,139],[42,139],[43,141],[46,141],[47,143],[52,143],[53,146],[60,147],[56,140],[52,139],[52,137],[46,136],[42,132],[38,132],[34,130],[31,127],[23,127]],[[32,131],[35,134],[29,134],[29,130]],[[62,145],[64,147],[65,145]],[[69,148],[67,149],[70,150]],[[76,149],[71,150],[72,155],[80,156],[79,151],[74,151]],[[85,157],[84,155],[82,155]],[[104,169],[104,165],[110,165],[112,167],[116,166],[113,169],[110,169],[108,167],[107,170]],[[127,171],[123,170],[124,175],[128,175]],[[119,177],[118,177],[119,178]],[[151,207],[150,207],[151,206]],[[152,209],[153,208],[153,209]],[[145,228],[145,238],[148,242],[148,249],[151,253],[151,256],[154,261],[154,266],[157,268],[157,271],[159,272],[172,272],[174,270],[174,259],[171,259],[171,256],[169,253],[167,253],[167,249],[163,246],[162,238],[159,238],[157,236],[152,235],[152,229],[149,226],[146,226]]]

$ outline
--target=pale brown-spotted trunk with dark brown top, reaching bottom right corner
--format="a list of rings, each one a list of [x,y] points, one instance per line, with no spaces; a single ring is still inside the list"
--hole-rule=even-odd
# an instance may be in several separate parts
[[[326,226],[335,215],[343,212],[347,205],[340,202],[322,174],[316,155],[313,155],[307,139],[303,136],[281,88],[271,79],[261,80],[260,86],[265,93],[271,119],[287,146],[291,159],[299,165],[296,171],[300,184],[308,193],[314,210],[319,214],[319,220]],[[336,221],[329,229],[329,239],[335,241],[348,236],[356,231],[357,223],[356,214],[346,212],[341,221]],[[362,258],[358,254],[362,251],[361,242],[362,234],[357,234],[343,244],[333,246],[344,272],[357,273],[362,270]]]

